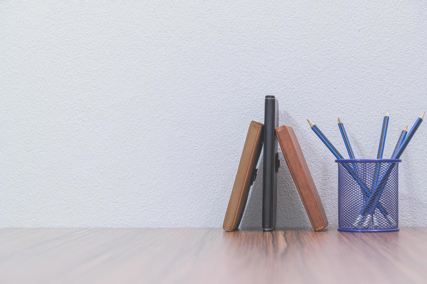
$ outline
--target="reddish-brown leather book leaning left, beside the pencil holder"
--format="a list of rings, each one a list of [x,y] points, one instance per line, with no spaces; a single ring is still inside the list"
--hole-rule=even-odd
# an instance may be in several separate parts
[[[295,132],[292,127],[280,126],[276,135],[308,219],[314,231],[320,231],[328,225],[328,218]]]

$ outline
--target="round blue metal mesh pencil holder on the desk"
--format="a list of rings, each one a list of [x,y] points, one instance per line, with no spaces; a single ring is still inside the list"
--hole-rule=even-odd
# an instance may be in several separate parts
[[[338,231],[399,231],[400,159],[342,159],[338,163]]]

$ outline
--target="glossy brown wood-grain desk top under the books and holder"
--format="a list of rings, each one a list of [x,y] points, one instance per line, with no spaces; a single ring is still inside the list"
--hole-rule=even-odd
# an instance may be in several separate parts
[[[427,228],[6,228],[1,283],[426,283]]]

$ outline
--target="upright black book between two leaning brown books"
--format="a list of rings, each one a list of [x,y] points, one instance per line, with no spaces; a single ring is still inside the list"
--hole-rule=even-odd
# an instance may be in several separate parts
[[[279,126],[279,104],[274,96],[266,96],[264,110],[263,167],[263,231],[276,226],[277,172],[280,167],[275,129]]]

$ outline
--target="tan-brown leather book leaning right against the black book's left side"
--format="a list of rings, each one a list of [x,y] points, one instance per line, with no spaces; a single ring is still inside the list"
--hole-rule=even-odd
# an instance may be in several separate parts
[[[263,149],[264,125],[251,121],[242,156],[240,157],[236,179],[234,179],[233,190],[231,190],[222,228],[225,231],[234,231],[240,225],[243,211],[248,200],[249,188],[257,177],[257,164]]]

